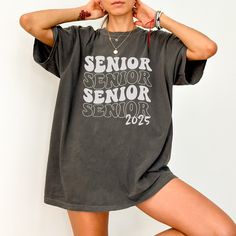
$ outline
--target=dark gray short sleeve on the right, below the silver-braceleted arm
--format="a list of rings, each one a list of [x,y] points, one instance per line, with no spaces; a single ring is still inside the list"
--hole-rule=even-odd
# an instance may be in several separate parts
[[[167,73],[173,85],[194,85],[202,78],[207,60],[188,60],[187,47],[173,33],[165,32]]]

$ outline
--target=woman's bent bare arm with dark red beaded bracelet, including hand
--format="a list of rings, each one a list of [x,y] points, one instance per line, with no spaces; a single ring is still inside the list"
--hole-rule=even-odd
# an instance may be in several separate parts
[[[78,20],[80,12],[88,11],[91,16],[86,19],[97,19],[104,16],[104,12],[100,8],[97,0],[90,0],[88,4],[67,9],[47,9],[29,12],[21,15],[19,19],[20,25],[35,38],[43,43],[53,46],[52,27]]]

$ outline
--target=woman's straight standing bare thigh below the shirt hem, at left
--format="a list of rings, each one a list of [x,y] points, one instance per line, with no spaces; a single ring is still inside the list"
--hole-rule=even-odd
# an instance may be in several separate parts
[[[67,210],[74,236],[108,236],[109,211]]]

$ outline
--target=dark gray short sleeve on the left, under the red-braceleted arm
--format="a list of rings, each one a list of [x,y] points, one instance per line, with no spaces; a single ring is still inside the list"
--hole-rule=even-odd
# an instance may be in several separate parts
[[[69,26],[62,28],[60,25],[52,28],[54,44],[52,47],[44,44],[37,38],[33,45],[33,58],[40,66],[61,78],[69,66],[74,47],[78,47],[80,39],[79,29],[82,26]],[[79,53],[79,52],[78,52]]]

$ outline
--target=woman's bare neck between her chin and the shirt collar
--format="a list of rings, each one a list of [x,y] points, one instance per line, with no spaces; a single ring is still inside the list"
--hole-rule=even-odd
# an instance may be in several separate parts
[[[125,32],[135,29],[133,17],[130,15],[113,16],[109,15],[106,29],[110,32]]]

